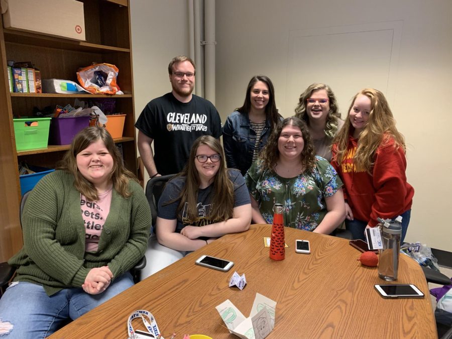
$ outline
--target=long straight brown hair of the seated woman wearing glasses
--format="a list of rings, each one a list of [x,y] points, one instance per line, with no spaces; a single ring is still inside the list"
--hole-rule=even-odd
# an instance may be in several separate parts
[[[218,172],[216,172],[213,179],[213,189],[210,193],[211,207],[210,220],[212,222],[224,221],[232,218],[234,210],[234,184],[229,178],[228,169],[225,165],[224,152],[218,140],[212,136],[201,136],[195,140],[191,147],[190,156],[185,164],[184,169],[179,176],[184,176],[185,185],[180,192],[180,195],[173,201],[180,199],[177,208],[178,215],[183,211],[184,205],[188,202],[188,210],[186,218],[190,223],[198,219],[198,211],[196,209],[198,190],[200,185],[199,173],[195,166],[195,156],[198,147],[206,145],[217,154],[220,155],[220,164]],[[169,203],[173,202],[170,201]]]

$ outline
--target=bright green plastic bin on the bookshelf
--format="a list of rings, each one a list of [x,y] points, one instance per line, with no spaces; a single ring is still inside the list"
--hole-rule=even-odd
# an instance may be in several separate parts
[[[13,119],[16,150],[24,151],[47,147],[50,119],[36,117]]]

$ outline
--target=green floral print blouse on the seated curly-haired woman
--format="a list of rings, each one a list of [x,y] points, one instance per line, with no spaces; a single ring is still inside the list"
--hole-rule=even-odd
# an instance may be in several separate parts
[[[315,167],[295,178],[282,178],[264,169],[257,160],[245,175],[251,195],[267,223],[273,223],[273,205],[284,206],[284,225],[313,231],[327,210],[325,197],[333,195],[343,185],[335,169],[323,158],[315,157]]]

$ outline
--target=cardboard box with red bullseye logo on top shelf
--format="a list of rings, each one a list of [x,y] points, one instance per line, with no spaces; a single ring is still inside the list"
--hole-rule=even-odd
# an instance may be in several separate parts
[[[2,0],[3,26],[19,31],[86,40],[83,3],[75,0]]]

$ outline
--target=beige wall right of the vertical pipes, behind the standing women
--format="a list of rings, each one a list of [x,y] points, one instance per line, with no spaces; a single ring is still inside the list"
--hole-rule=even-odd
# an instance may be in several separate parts
[[[365,79],[366,67],[357,66],[353,76],[347,77],[340,69],[347,60],[333,49],[337,72],[326,75],[320,69],[322,77],[315,80],[301,76],[296,90],[288,81],[291,72],[296,71],[288,69],[290,33],[402,22],[400,41],[395,46],[399,48],[398,61],[391,60],[391,83],[382,90],[390,99],[397,126],[409,147],[407,176],[415,196],[406,240],[452,251],[448,213],[452,201],[452,143],[448,135],[452,115],[443,106],[452,91],[452,2],[229,0],[216,2],[216,14],[216,106],[222,117],[243,102],[249,79],[260,73],[273,80],[283,116],[292,115],[297,102],[296,95],[286,94],[300,93],[318,81],[330,83],[345,117],[350,98],[364,85],[373,84],[371,79]],[[305,58],[311,56],[315,67],[319,53],[324,53],[324,40],[328,39],[319,39],[303,51]],[[354,52],[363,60],[373,56],[369,49],[360,46]],[[373,69],[375,74],[388,73],[387,68],[381,67]]]

